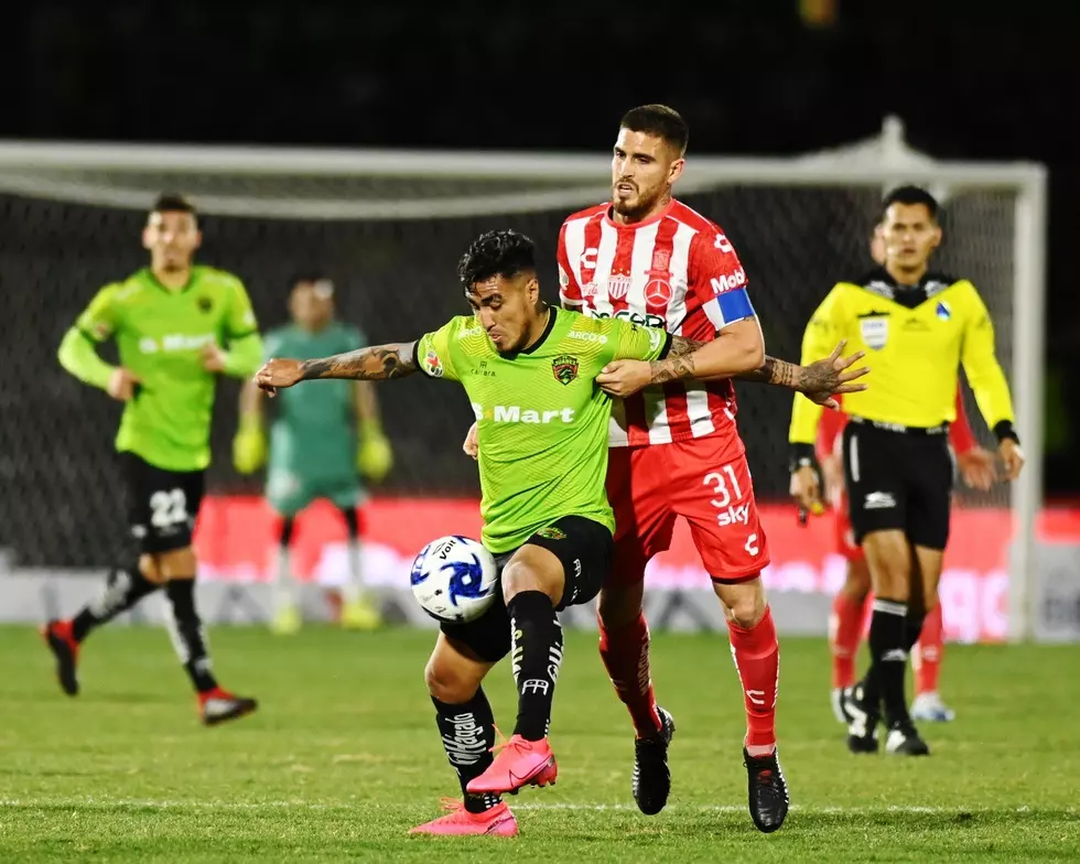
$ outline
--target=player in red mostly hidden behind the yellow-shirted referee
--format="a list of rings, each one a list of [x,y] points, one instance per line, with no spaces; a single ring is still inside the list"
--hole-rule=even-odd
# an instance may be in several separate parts
[[[871,236],[871,258],[878,266],[885,263],[885,244],[875,229]],[[962,390],[957,389],[957,420],[949,426],[949,443],[957,460],[957,467],[964,483],[976,489],[987,490],[996,479],[994,454],[975,442],[968,423]],[[840,401],[841,397],[836,398]],[[846,418],[840,411],[825,411],[818,424],[817,454],[821,465],[824,497],[833,510],[836,532],[836,551],[846,561],[844,584],[833,598],[829,619],[829,648],[832,654],[831,702],[836,719],[845,723],[840,708],[841,691],[855,683],[855,654],[865,630],[871,593],[870,570],[863,550],[855,544],[851,520],[847,517],[847,496],[844,492],[844,468],[841,439]],[[941,604],[927,613],[922,633],[911,649],[911,667],[915,671],[915,700],[911,719],[930,722],[948,722],[955,712],[948,708],[938,693],[938,678],[944,656],[944,631],[941,623]]]

